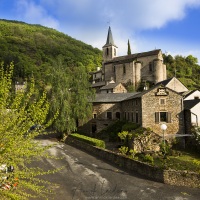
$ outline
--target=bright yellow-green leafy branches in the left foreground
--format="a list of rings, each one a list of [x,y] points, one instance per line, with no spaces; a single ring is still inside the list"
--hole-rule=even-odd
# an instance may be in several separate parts
[[[17,189],[1,190],[0,199],[30,199],[43,197],[50,191],[44,187],[50,183],[38,178],[44,172],[42,169],[30,167],[32,161],[45,156],[48,147],[40,145],[34,138],[43,134],[43,130],[51,124],[46,120],[50,104],[46,93],[38,97],[34,81],[27,84],[26,90],[13,92],[12,76],[14,65],[11,63],[4,71],[0,67],[0,166],[13,166],[10,175],[0,171],[0,185],[17,185]],[[40,124],[41,129],[29,132],[34,124]],[[29,134],[27,134],[29,133]],[[28,167],[29,166],[29,167]],[[8,180],[2,177],[8,177]]]

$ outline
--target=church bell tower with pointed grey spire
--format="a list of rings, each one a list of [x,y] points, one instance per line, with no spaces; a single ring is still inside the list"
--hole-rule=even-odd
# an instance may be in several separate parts
[[[107,36],[106,44],[102,48],[103,48],[103,61],[104,62],[112,60],[113,58],[117,57],[117,48],[118,47],[114,44],[110,26],[108,29],[108,36]]]

